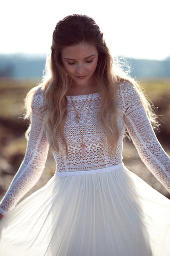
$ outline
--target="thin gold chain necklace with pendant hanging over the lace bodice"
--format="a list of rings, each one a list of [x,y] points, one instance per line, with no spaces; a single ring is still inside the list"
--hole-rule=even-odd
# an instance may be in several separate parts
[[[80,136],[81,136],[81,141],[82,141],[82,143],[81,143],[81,152],[82,152],[82,155],[84,155],[84,154],[86,153],[86,145],[85,145],[85,143],[84,143],[84,131],[85,131],[85,128],[86,128],[87,118],[88,118],[88,116],[89,116],[89,110],[90,110],[90,107],[91,107],[91,102],[92,102],[92,97],[93,97],[93,95],[94,95],[94,93],[92,93],[92,96],[91,96],[91,99],[90,99],[89,109],[88,109],[88,113],[87,113],[87,117],[86,117],[86,121],[85,121],[85,124],[84,124],[83,131],[81,131],[81,126],[80,126],[80,111],[82,110],[84,104],[86,103],[86,101],[87,101],[87,99],[88,99],[88,97],[89,97],[89,94],[87,95],[87,98],[86,98],[86,100],[84,101],[84,104],[83,104],[81,110],[80,110],[79,113],[78,113],[77,108],[75,107],[75,104],[74,104],[72,95],[71,95],[71,93],[70,93],[70,97],[71,97],[71,100],[72,100],[72,102],[73,102],[73,106],[74,106],[74,109],[75,109],[75,111],[76,111],[76,113],[77,113],[77,115],[78,115],[78,120],[79,120],[79,130],[80,130]]]

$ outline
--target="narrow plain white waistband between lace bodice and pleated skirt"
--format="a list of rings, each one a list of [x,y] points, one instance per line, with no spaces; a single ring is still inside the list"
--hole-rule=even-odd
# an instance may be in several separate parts
[[[87,174],[96,174],[96,173],[104,173],[104,172],[111,172],[117,169],[124,167],[123,163],[101,168],[95,170],[88,170],[88,171],[74,171],[74,172],[56,172],[55,175],[58,177],[65,177],[65,176],[75,176],[75,175],[87,175]]]

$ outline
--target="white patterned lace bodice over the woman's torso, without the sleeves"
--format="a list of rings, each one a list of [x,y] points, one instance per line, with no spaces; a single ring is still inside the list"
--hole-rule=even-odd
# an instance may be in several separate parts
[[[86,122],[87,112],[92,97],[92,104],[90,107],[89,115]],[[74,109],[73,102],[70,96],[67,96],[68,101],[68,115],[65,123],[64,134],[67,139],[68,146],[68,157],[66,154],[55,154],[54,157],[57,163],[58,172],[69,172],[69,171],[87,171],[100,169],[112,165],[116,165],[122,162],[122,139],[124,135],[123,119],[118,118],[120,127],[123,127],[120,134],[120,140],[116,150],[116,154],[109,156],[108,151],[104,149],[104,140],[106,135],[101,129],[97,118],[97,111],[100,103],[99,93],[90,94],[87,101],[87,95],[73,96],[74,105],[77,108],[78,113],[80,112],[83,102],[85,102],[80,112],[80,127],[83,131],[84,124],[86,122],[86,128],[84,130],[84,143],[86,145],[86,152],[82,154],[81,150],[81,136],[80,127],[77,117],[77,113]],[[58,140],[62,146],[62,140],[58,135]],[[107,148],[107,147],[106,147]]]

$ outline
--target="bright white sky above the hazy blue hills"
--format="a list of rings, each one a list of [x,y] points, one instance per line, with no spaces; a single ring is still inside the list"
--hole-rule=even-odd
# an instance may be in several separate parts
[[[80,13],[94,18],[113,56],[170,56],[168,0],[3,0],[0,53],[46,55],[56,23]]]

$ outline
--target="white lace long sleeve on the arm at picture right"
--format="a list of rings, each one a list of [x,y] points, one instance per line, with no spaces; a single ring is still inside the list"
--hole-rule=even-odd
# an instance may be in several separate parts
[[[126,82],[121,85],[121,94],[125,124],[143,163],[170,191],[170,159],[156,138],[138,93]]]

